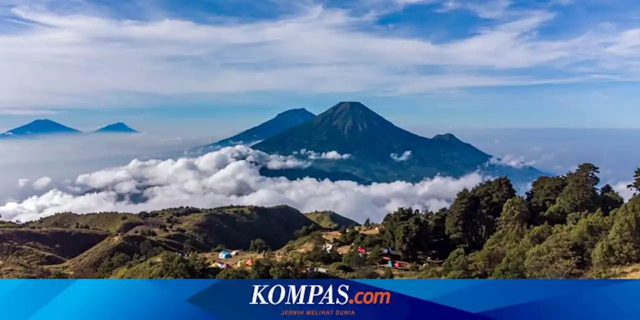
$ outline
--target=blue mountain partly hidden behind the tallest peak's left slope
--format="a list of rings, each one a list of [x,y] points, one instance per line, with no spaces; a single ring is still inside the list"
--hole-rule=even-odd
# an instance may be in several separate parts
[[[271,138],[286,129],[303,124],[313,119],[315,116],[316,115],[303,108],[287,110],[279,113],[275,118],[252,127],[251,129],[240,132],[235,136],[196,149],[206,151],[238,144],[252,145],[253,143],[258,143],[259,141]]]

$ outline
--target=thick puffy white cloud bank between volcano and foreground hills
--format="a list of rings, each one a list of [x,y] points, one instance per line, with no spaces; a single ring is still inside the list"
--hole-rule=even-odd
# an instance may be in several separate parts
[[[289,161],[244,146],[223,148],[194,159],[134,160],[126,166],[79,175],[66,191],[56,188],[7,203],[0,207],[0,214],[7,220],[28,221],[63,211],[140,212],[180,205],[287,204],[303,212],[333,210],[358,221],[380,221],[399,206],[440,209],[450,204],[458,191],[483,180],[474,173],[461,179],[436,177],[417,184],[362,186],[348,181],[290,181],[259,174],[259,166],[292,166]],[[83,195],[83,191],[95,188],[103,191]],[[123,192],[142,192],[148,200],[143,204],[118,202],[116,193]]]

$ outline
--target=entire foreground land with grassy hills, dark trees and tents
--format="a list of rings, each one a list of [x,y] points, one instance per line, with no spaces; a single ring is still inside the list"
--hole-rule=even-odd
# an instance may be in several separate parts
[[[358,225],[287,206],[63,213],[0,225],[4,278],[612,278],[640,271],[640,196],[582,164]],[[628,188],[640,192],[640,169]],[[637,193],[636,193],[637,194]],[[220,255],[232,250],[239,253]],[[222,253],[221,253],[222,252]],[[625,269],[626,268],[626,269]]]

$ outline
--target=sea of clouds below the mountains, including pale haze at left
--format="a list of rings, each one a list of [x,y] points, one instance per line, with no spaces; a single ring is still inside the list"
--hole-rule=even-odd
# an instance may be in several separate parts
[[[181,205],[286,204],[302,212],[331,210],[360,222],[381,221],[398,207],[432,211],[447,207],[461,189],[489,179],[472,173],[417,184],[291,181],[264,177],[259,169],[304,168],[317,159],[344,161],[351,155],[301,150],[276,156],[236,145],[198,157],[184,156],[184,148],[197,143],[148,135],[3,141],[0,215],[3,220],[30,221],[67,211],[137,213]],[[182,157],[161,156],[172,153]],[[516,167],[524,163],[519,158],[500,159],[494,161]],[[617,182],[614,188],[630,198],[627,183]]]

